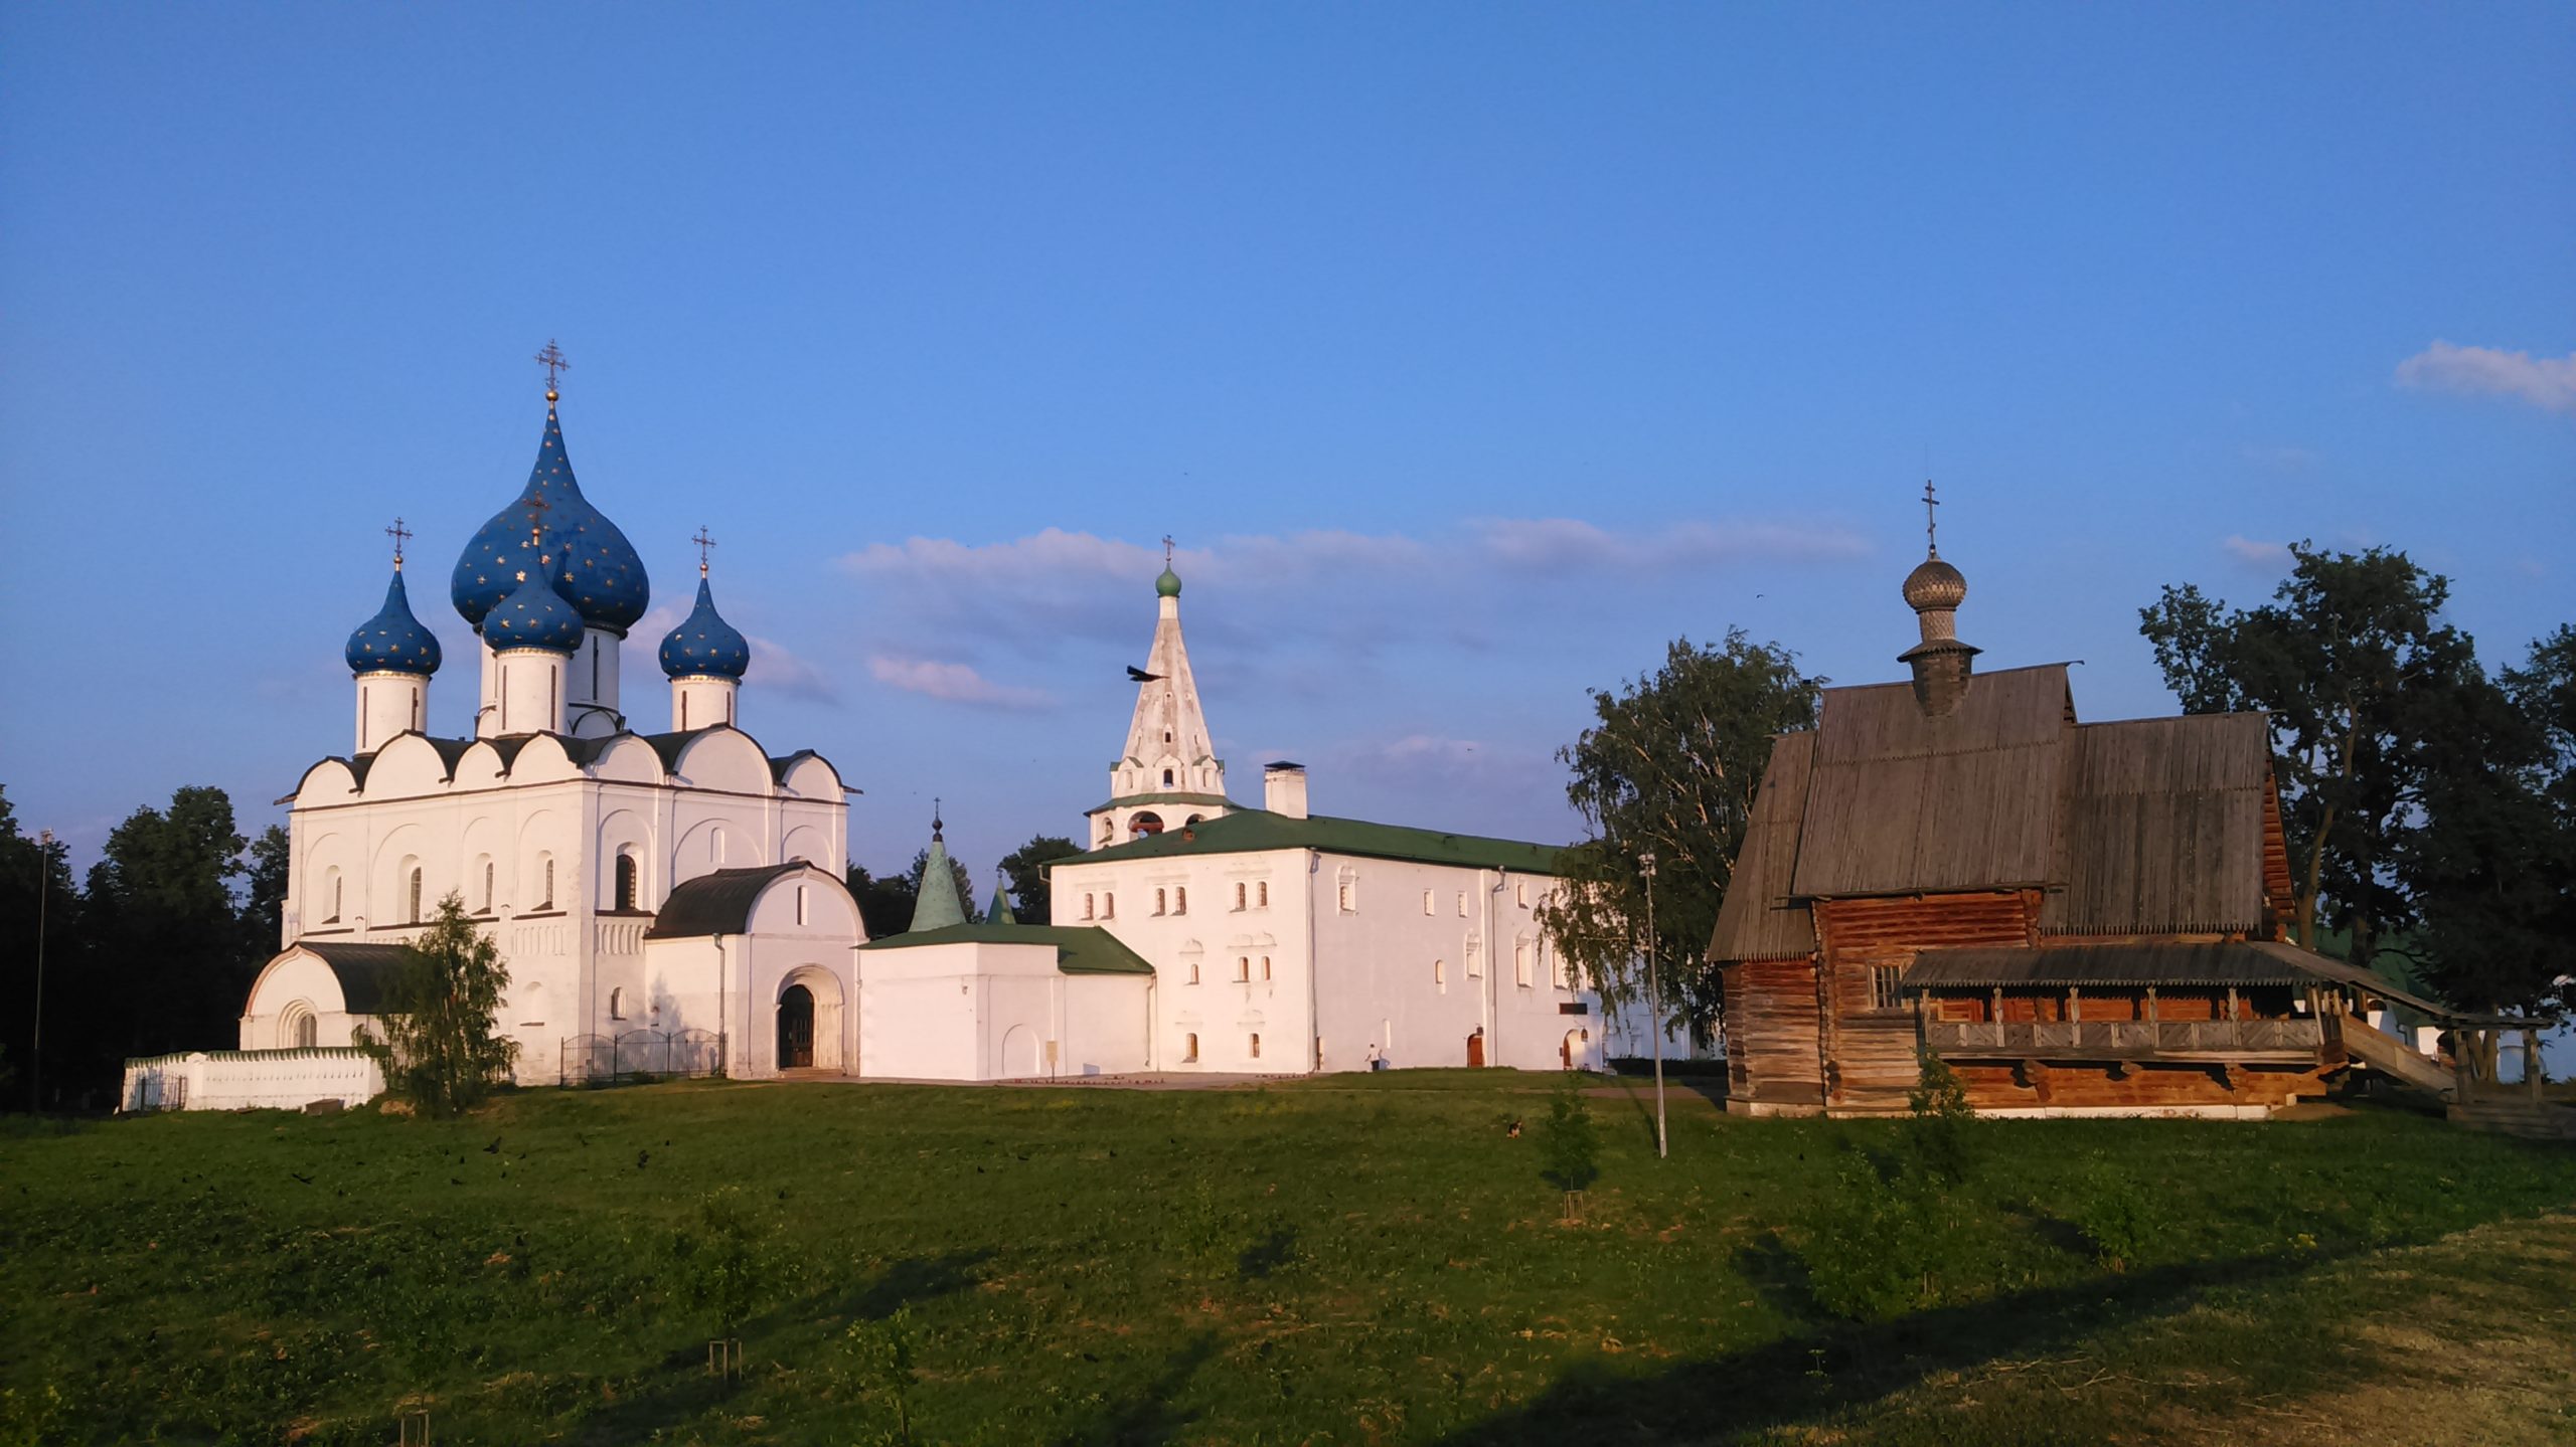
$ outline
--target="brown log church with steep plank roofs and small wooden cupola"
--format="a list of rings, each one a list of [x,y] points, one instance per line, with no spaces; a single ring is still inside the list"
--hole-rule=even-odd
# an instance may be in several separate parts
[[[1783,734],[1708,958],[1728,1110],[1904,1112],[1919,1053],[1981,1112],[2264,1115],[2409,1056],[2375,976],[2285,942],[2262,713],[2076,721],[2066,664],[1978,675],[1968,582],[1906,577],[1911,682]]]

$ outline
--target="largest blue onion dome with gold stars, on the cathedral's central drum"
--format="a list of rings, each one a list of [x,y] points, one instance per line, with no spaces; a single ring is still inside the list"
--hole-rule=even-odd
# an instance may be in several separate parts
[[[544,507],[538,507],[544,505]],[[644,577],[644,559],[618,525],[582,497],[572,479],[572,458],[564,453],[564,425],[554,412],[554,394],[546,397],[546,435],[536,443],[536,466],[528,469],[528,487],[474,533],[456,574],[448,579],[448,597],[466,623],[482,628],[484,615],[518,590],[518,572],[526,559],[528,512],[536,512],[541,548],[554,559],[549,582],[590,628],[608,628],[626,636],[652,602],[652,582]],[[495,639],[497,641],[497,639]]]

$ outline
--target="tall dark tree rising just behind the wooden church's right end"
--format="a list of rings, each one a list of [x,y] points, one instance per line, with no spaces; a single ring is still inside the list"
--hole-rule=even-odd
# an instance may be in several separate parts
[[[2321,922],[2347,927],[2367,968],[2411,919],[2396,870],[2476,654],[2439,618],[2450,582],[2406,554],[2290,554],[2272,602],[2231,610],[2195,584],[2166,587],[2138,631],[2187,713],[2269,716],[2298,940],[2316,948]]]

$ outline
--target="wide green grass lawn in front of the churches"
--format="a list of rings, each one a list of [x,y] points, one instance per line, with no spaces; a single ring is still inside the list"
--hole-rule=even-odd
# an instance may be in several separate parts
[[[1674,1089],[1656,1161],[1646,1087],[1605,1084],[1566,1223],[1551,1084],[21,1120],[0,1442],[374,1444],[420,1408],[443,1447],[2329,1442],[2362,1401],[2409,1442],[2576,1437],[2563,1146],[2380,1110],[1978,1123],[1924,1305],[1852,1323],[1801,1251],[1906,1123]],[[2156,1213],[2117,1272],[2071,1226],[2105,1169]],[[726,1272],[739,1383],[706,1370]]]

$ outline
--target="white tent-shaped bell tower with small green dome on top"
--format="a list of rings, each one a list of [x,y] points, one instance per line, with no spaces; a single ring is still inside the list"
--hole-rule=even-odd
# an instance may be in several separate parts
[[[1190,677],[1190,649],[1180,641],[1180,574],[1172,538],[1162,541],[1162,577],[1154,579],[1154,649],[1136,680],[1136,718],[1126,752],[1110,765],[1110,801],[1087,814],[1090,847],[1121,845],[1139,834],[1180,829],[1226,814],[1226,760],[1208,739],[1208,716]]]

